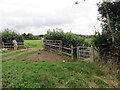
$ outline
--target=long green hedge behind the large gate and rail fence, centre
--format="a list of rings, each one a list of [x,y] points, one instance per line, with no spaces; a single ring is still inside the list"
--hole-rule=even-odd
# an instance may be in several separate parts
[[[62,45],[66,47],[70,47],[71,45],[76,47],[84,44],[83,37],[71,32],[64,33],[61,29],[56,29],[53,31],[48,30],[47,34],[45,35],[45,39],[62,40]]]

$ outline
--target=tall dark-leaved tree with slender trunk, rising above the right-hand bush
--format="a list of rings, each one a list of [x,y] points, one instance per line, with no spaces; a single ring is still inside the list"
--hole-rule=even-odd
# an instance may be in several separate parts
[[[98,3],[98,11],[101,14],[99,18],[102,21],[103,32],[107,32],[115,41],[115,32],[120,31],[120,2]]]

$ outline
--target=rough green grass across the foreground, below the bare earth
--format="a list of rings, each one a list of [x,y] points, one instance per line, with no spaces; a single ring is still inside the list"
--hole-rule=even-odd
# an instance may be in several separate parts
[[[115,76],[86,62],[32,62],[19,57],[2,66],[4,88],[86,88],[91,83],[97,87],[117,87],[107,81],[116,81]]]

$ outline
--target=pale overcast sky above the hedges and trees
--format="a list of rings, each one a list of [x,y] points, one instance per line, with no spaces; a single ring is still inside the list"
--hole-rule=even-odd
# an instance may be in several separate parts
[[[79,1],[75,5],[75,1]],[[0,0],[0,31],[45,34],[48,29],[93,35],[100,30],[99,0]]]

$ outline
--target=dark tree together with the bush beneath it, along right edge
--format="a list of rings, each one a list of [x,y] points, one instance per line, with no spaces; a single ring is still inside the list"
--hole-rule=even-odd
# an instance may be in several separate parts
[[[96,33],[94,44],[101,55],[118,60],[120,53],[120,1],[98,3],[102,34]]]

